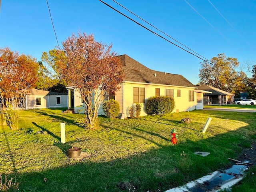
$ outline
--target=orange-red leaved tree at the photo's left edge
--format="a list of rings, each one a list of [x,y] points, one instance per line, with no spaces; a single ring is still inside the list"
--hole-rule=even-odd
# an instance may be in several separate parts
[[[18,118],[29,88],[36,81],[36,58],[0,48],[0,102],[11,129],[18,129]]]

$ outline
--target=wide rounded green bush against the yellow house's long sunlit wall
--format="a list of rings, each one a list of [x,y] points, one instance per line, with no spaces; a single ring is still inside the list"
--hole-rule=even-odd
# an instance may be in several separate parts
[[[171,113],[174,110],[174,98],[168,96],[152,96],[147,102],[147,114],[163,115]]]

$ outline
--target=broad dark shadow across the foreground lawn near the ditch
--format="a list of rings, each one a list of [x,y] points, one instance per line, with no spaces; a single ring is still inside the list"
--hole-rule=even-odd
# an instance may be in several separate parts
[[[230,134],[218,137],[225,140]],[[81,162],[71,160],[74,161],[71,166],[18,175],[16,180],[20,182],[20,190],[31,192],[128,192],[133,187],[136,192],[164,191],[229,164],[227,158],[234,158],[235,153],[229,146],[217,146],[214,141],[214,138],[200,142],[188,140],[108,162],[95,162],[90,157]],[[211,154],[202,157],[194,154],[196,150]],[[48,181],[43,182],[44,178]]]

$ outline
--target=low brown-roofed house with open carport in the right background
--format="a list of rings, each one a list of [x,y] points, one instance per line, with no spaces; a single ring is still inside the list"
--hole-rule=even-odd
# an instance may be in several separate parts
[[[199,90],[212,93],[204,94],[204,105],[226,105],[234,102],[234,94],[214,88],[209,85],[197,86]]]

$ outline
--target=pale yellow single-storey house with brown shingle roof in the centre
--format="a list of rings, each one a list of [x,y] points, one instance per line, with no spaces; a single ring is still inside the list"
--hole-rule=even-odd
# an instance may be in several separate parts
[[[175,101],[174,112],[203,108],[203,94],[210,92],[198,90],[182,75],[151,70],[128,55],[119,57],[125,78],[120,85],[120,90],[106,100],[114,99],[118,101],[122,118],[129,116],[128,108],[135,103],[142,103],[140,115],[146,115],[146,103],[151,96],[164,95],[173,97]],[[74,87],[67,87],[67,89],[69,95],[68,108],[74,109],[75,113],[77,113],[84,107],[80,94]],[[99,109],[98,114],[104,114],[102,107]]]

